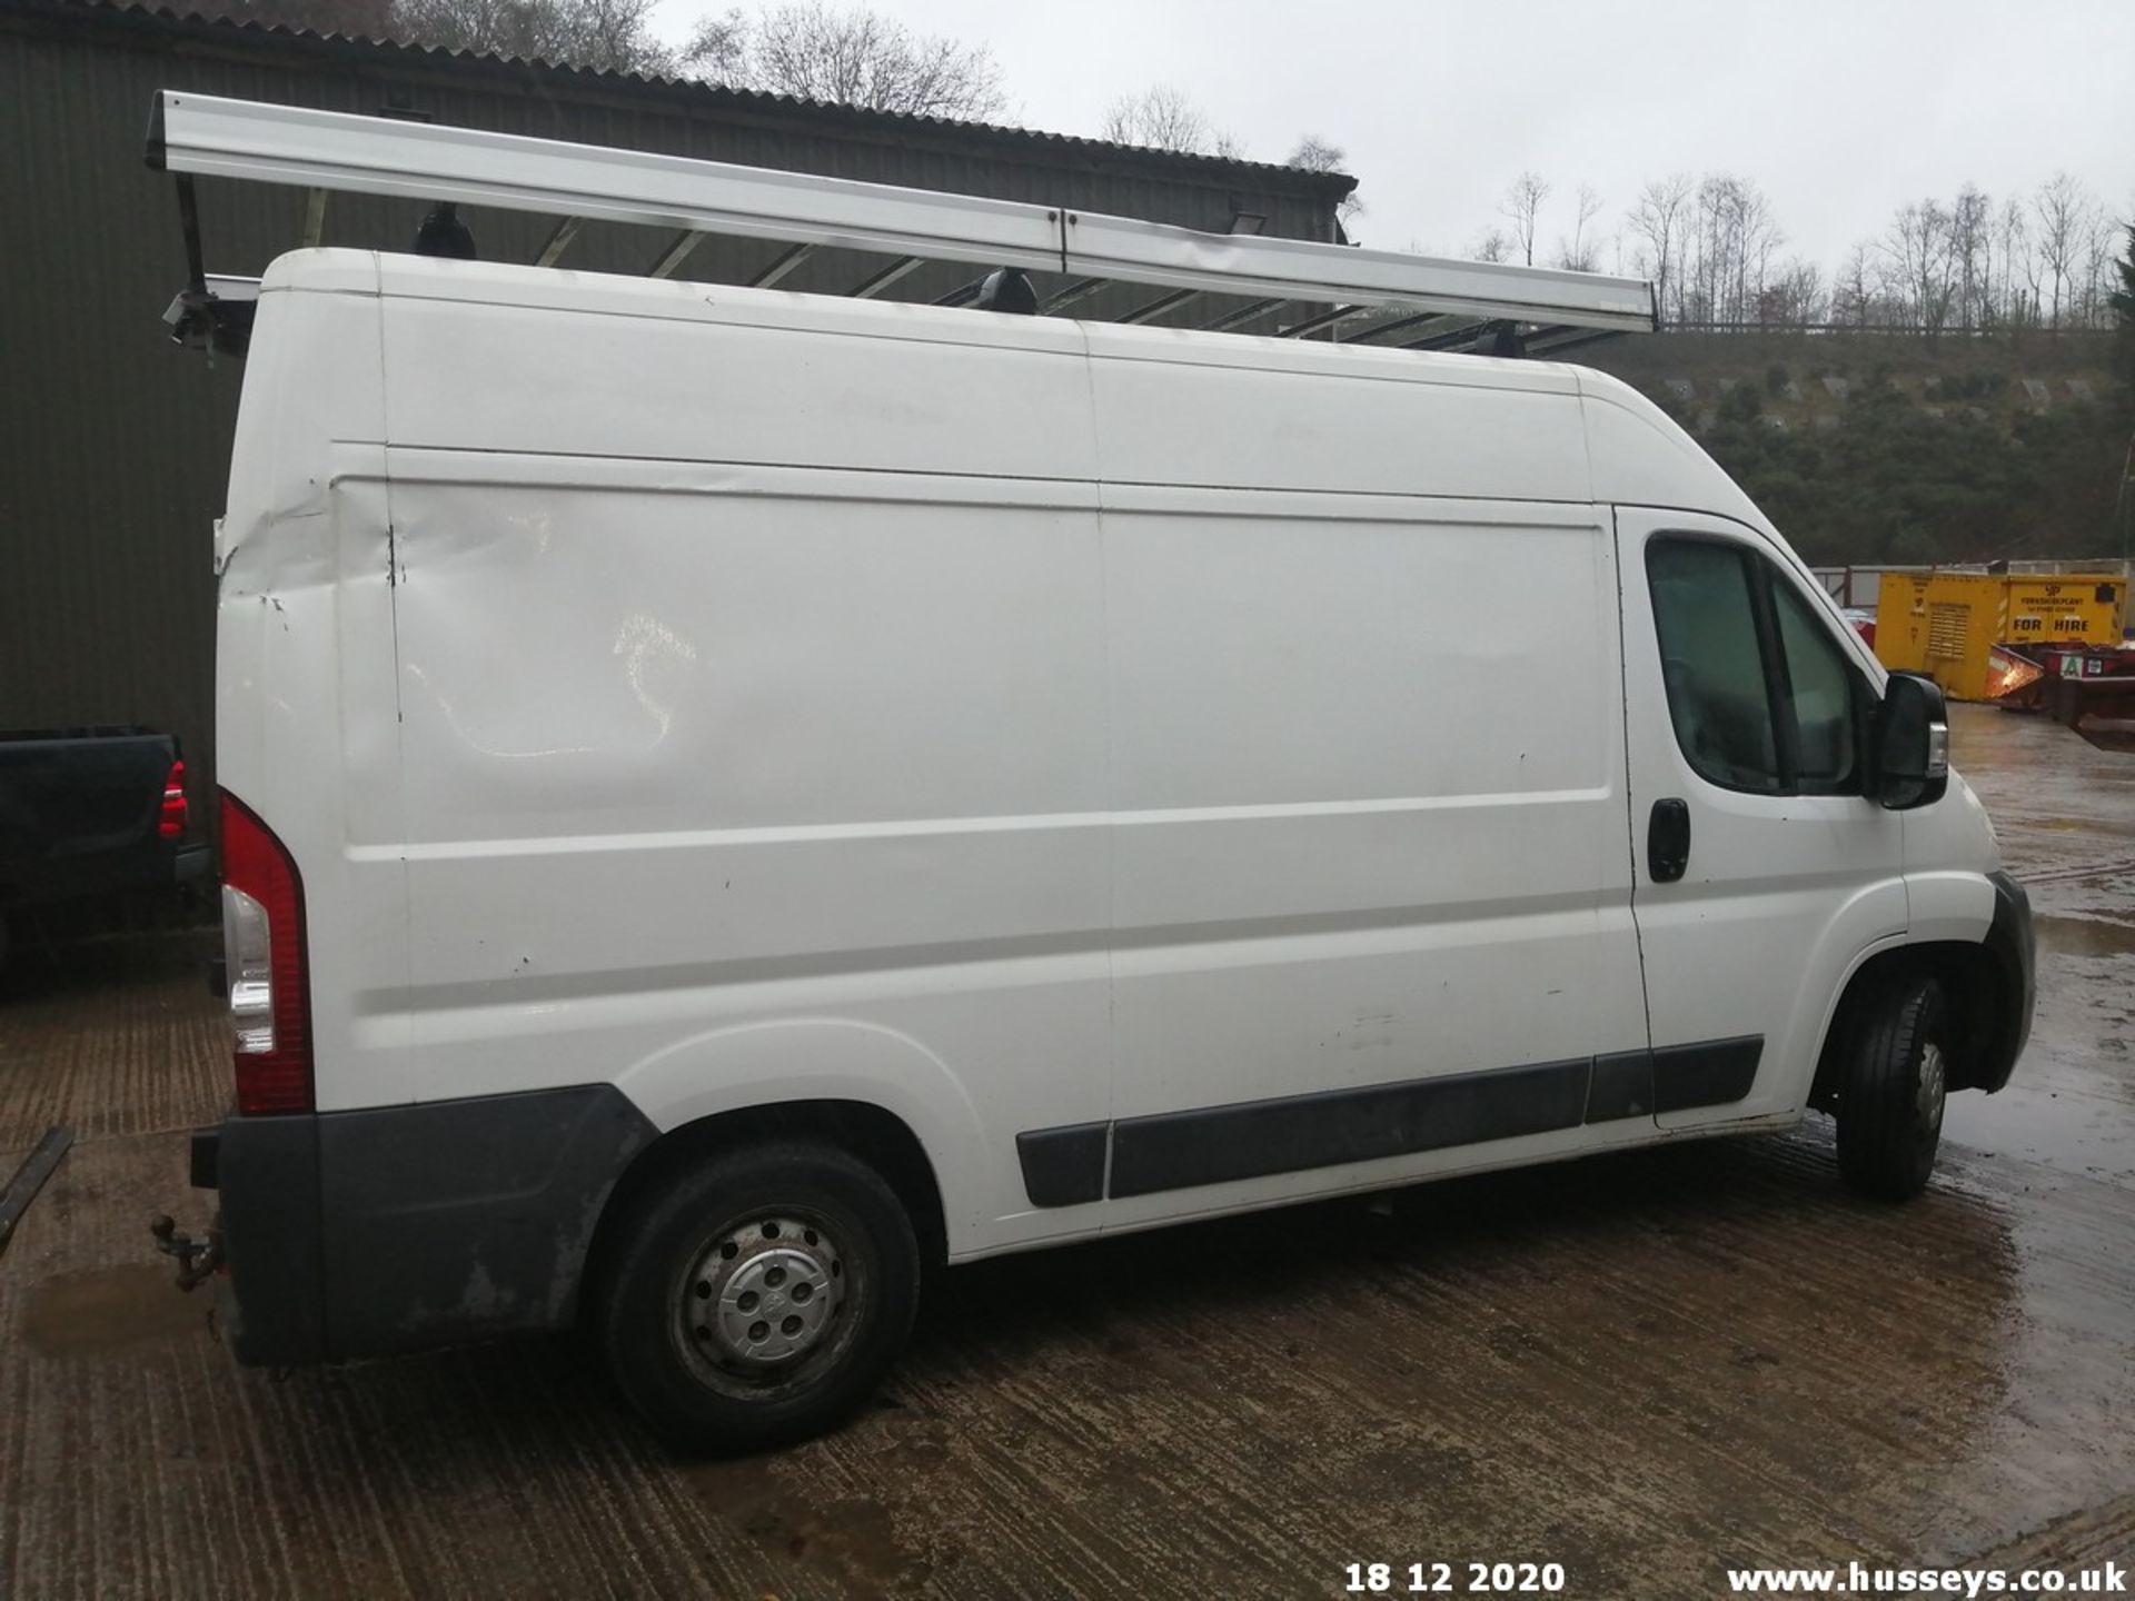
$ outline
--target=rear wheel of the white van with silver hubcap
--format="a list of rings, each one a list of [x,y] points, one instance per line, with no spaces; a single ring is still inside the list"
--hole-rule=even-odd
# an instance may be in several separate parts
[[[715,1157],[636,1198],[594,1334],[668,1445],[709,1456],[835,1428],[903,1351],[920,1251],[897,1193],[826,1144]]]

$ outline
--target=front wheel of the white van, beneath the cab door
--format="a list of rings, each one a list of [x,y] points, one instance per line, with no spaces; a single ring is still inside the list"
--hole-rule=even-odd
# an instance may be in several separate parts
[[[1875,1200],[1928,1187],[1949,1093],[1949,1010],[1932,978],[1904,978],[1855,1014],[1838,1089],[1838,1172]]]

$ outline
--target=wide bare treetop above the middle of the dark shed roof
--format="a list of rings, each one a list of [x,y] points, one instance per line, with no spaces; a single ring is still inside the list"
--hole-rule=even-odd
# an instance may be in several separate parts
[[[824,0],[794,0],[754,19],[741,11],[702,17],[683,62],[739,90],[914,117],[974,122],[1008,105],[984,45],[914,34],[867,6],[833,11]]]

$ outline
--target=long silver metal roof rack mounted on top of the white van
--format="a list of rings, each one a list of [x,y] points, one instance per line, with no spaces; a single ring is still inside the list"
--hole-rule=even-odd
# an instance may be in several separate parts
[[[192,179],[233,177],[312,190],[307,237],[327,192],[538,211],[557,218],[536,265],[555,265],[583,222],[634,222],[675,231],[651,275],[664,278],[705,235],[771,239],[788,252],[756,278],[775,282],[813,250],[865,250],[892,256],[856,295],[880,295],[922,260],[956,260],[1065,273],[1074,282],[1040,303],[1065,310],[1091,290],[1157,284],[1174,290],[1127,314],[1146,320],[1196,295],[1251,297],[1236,327],[1283,305],[1326,307],[1290,329],[1302,335],[1356,327],[1379,307],[1392,322],[1364,324],[1349,342],[1426,324],[1411,346],[1486,350],[1537,342],[1652,331],[1652,286],[1546,267],[1439,260],[1392,250],[1360,250],[1304,239],[1200,233],[1159,222],[1100,216],[1042,203],[939,194],[845,177],[658,156],[608,145],[576,145],[478,128],[312,111],[162,90],[149,111],[147,164],[177,175],[186,226],[188,288],[167,312],[179,339],[243,350],[252,303],[222,280],[211,284],[201,258]],[[969,301],[976,284],[944,297]],[[1211,327],[1217,327],[1211,324]]]

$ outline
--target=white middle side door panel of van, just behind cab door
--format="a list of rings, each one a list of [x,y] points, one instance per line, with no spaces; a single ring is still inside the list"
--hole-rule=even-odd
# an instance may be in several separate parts
[[[1646,1048],[1593,508],[1108,482],[1104,534],[1108,1225],[1648,1136],[1582,1127]]]

